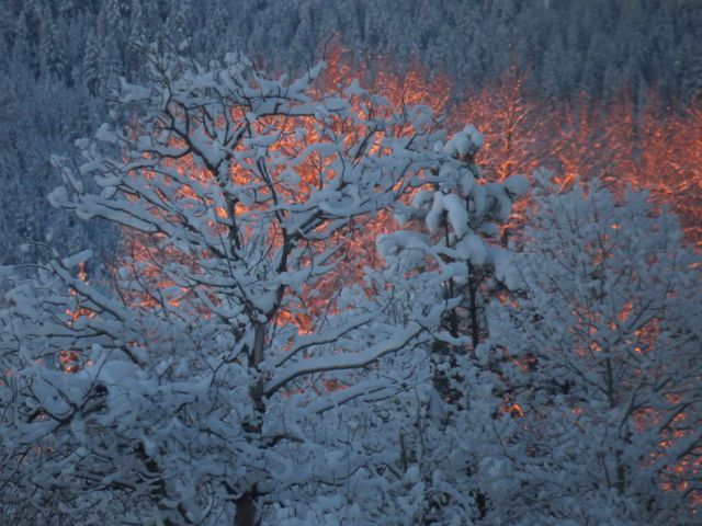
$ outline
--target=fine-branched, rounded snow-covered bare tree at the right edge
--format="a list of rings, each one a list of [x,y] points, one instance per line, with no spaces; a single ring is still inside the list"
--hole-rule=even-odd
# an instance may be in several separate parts
[[[510,524],[691,524],[702,453],[701,261],[645,193],[536,193],[521,293],[484,359],[517,403],[494,458]],[[697,510],[699,513],[699,508]],[[521,521],[521,523],[520,523]]]

